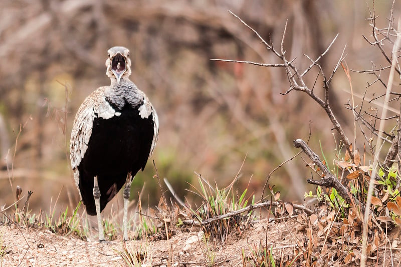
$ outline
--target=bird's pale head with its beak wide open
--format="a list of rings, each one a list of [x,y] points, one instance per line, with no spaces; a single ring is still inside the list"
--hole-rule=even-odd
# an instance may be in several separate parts
[[[121,78],[128,78],[131,75],[131,60],[129,50],[125,47],[112,47],[107,51],[106,74],[110,79],[116,79],[117,84]]]

